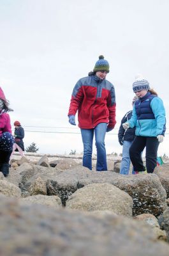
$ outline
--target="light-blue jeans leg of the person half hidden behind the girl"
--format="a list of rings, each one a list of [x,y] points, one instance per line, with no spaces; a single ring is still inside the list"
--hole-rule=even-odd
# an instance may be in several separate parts
[[[129,174],[129,148],[131,147],[132,141],[123,141],[122,145],[122,161],[121,161],[121,170],[120,174]]]

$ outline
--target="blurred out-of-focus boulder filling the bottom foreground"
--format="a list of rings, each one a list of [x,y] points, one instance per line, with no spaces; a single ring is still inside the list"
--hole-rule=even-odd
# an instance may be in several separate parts
[[[124,216],[24,205],[0,196],[1,255],[168,256],[151,228]]]

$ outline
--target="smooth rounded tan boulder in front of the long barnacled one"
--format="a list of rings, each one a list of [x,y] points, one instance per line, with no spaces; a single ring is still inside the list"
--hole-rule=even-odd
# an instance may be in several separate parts
[[[113,211],[131,217],[133,200],[111,184],[97,183],[75,191],[66,201],[66,207],[83,211]]]

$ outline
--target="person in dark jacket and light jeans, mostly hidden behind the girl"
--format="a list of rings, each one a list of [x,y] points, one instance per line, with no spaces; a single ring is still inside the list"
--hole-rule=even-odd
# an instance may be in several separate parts
[[[132,101],[132,105],[135,104],[135,101],[138,97],[134,97]],[[122,124],[128,122],[131,118],[133,111],[130,110],[123,116],[121,120],[121,126],[119,127],[118,137],[119,143],[122,145],[122,161],[121,161],[121,170],[120,174],[129,174],[129,165],[130,165],[130,158],[129,158],[129,148],[135,139],[135,127],[129,128],[128,130],[124,130]],[[134,170],[132,171],[135,174]]]

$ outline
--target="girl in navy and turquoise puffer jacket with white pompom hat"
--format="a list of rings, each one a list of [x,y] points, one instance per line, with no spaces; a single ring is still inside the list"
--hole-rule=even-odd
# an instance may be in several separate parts
[[[159,143],[163,142],[166,131],[165,108],[158,94],[142,76],[137,76],[133,83],[133,92],[138,100],[133,106],[131,119],[124,123],[124,129],[136,127],[136,138],[129,148],[129,156],[135,173],[154,172],[157,164]],[[146,168],[143,166],[141,153],[146,148]]]

